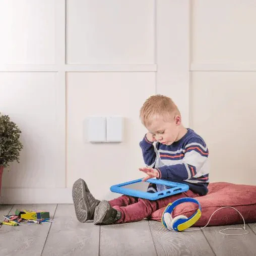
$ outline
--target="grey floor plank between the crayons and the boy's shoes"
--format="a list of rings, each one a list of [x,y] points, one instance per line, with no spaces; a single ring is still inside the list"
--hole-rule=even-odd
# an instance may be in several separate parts
[[[74,205],[58,205],[42,255],[99,255],[99,226],[80,223]]]

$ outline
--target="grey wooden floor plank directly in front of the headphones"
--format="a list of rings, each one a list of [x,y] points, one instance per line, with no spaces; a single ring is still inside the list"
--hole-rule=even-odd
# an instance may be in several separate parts
[[[150,221],[150,229],[157,255],[214,255],[201,230],[169,231],[158,221]]]

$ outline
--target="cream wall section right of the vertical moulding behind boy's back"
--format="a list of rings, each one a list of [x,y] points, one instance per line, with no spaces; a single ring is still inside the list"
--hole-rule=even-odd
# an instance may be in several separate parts
[[[206,139],[211,181],[256,184],[256,1],[193,1],[190,125]]]

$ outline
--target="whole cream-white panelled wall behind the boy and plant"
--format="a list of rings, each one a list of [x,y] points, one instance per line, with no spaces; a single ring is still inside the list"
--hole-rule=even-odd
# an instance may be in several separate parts
[[[206,138],[211,181],[255,184],[255,11],[252,0],[1,1],[0,111],[24,144],[1,201],[72,203],[79,177],[99,199],[118,196],[110,185],[141,177],[139,109],[155,93]],[[88,115],[123,116],[123,142],[85,143]]]

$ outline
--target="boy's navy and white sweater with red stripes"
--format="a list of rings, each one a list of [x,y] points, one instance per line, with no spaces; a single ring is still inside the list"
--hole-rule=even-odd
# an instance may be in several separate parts
[[[204,140],[193,130],[187,129],[179,141],[169,146],[151,143],[145,136],[140,147],[145,164],[159,171],[159,179],[185,183],[200,196],[207,194],[209,152]],[[148,191],[154,193],[164,189],[164,185],[151,183]]]

